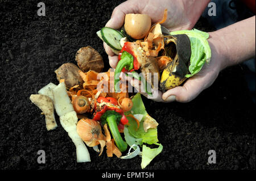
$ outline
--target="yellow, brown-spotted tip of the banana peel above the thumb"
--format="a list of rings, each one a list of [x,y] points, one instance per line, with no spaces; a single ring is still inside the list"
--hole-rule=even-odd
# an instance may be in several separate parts
[[[160,79],[160,89],[162,91],[172,89],[176,86],[181,85],[187,79],[186,77],[178,77],[172,71],[172,64],[168,64],[167,67],[163,70],[161,79]]]

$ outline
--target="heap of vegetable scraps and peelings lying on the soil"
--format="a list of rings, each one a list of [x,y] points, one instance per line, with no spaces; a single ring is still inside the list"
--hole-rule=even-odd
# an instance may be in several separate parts
[[[158,123],[146,112],[141,94],[129,97],[127,86],[121,92],[111,91],[114,71],[101,72],[102,57],[92,47],[80,48],[75,60],[78,66],[68,62],[55,70],[59,85],[49,83],[30,96],[46,116],[47,130],[57,128],[56,111],[76,146],[77,162],[90,162],[88,146],[99,156],[104,149],[108,157],[139,155],[144,169],[163,146],[158,143]]]

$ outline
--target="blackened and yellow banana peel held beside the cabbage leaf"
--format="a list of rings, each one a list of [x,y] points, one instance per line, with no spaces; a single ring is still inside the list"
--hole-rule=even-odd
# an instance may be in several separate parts
[[[189,60],[191,57],[191,43],[189,37],[185,34],[165,36],[164,53],[171,57],[163,70],[160,79],[160,90],[166,91],[181,85],[187,79],[186,74],[189,73]]]

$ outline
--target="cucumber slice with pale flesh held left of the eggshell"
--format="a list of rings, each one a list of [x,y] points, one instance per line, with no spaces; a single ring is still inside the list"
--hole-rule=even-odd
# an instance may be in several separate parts
[[[114,50],[121,50],[120,39],[123,37],[122,34],[112,28],[104,27],[101,29],[101,37]]]

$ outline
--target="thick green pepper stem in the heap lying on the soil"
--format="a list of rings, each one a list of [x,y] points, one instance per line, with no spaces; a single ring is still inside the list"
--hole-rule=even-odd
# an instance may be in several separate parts
[[[108,122],[110,132],[112,133],[117,148],[120,151],[125,151],[127,149],[127,143],[123,141],[121,134],[118,131],[117,117],[115,115],[109,115],[106,118],[106,121]]]

